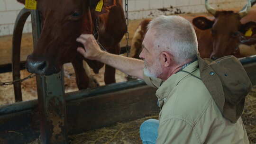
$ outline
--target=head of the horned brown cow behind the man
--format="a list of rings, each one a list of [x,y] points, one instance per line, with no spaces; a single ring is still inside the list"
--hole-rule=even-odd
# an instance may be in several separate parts
[[[250,0],[248,0],[247,6],[239,12],[215,10],[210,7],[208,0],[205,0],[205,7],[215,19],[197,17],[193,19],[193,25],[201,30],[211,29],[213,52],[210,58],[217,59],[225,55],[236,55],[240,36],[251,26],[256,26],[255,22],[246,24],[240,22],[251,8]]]

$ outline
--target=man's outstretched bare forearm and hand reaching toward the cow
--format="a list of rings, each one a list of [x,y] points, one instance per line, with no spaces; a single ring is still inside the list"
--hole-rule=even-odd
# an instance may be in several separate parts
[[[93,35],[82,34],[76,41],[84,46],[84,48],[78,47],[77,51],[85,58],[106,63],[121,72],[143,79],[144,62],[142,60],[102,51]]]

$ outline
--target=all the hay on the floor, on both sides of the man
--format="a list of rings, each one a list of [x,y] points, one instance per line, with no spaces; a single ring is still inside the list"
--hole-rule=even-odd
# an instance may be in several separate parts
[[[142,144],[139,126],[147,119],[158,119],[158,113],[152,112],[145,118],[130,122],[117,123],[114,126],[91,130],[78,135],[69,135],[70,144]],[[248,94],[242,115],[250,144],[256,144],[256,86]],[[40,144],[39,139],[30,144]]]

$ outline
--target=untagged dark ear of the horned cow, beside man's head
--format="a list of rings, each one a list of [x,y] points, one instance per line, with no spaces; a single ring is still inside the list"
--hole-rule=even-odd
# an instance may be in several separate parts
[[[192,21],[193,25],[201,30],[206,30],[212,27],[214,21],[205,17],[196,17]]]

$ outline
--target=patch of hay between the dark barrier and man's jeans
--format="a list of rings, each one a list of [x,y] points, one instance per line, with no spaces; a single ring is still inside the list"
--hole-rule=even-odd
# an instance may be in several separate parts
[[[114,126],[91,130],[79,135],[70,135],[70,144],[142,144],[139,137],[139,126],[147,119],[158,119],[158,113],[151,116]]]

